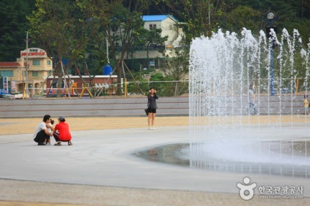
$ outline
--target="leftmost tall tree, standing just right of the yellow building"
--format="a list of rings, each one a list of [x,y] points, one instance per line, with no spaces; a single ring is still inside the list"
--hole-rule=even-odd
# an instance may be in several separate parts
[[[54,62],[54,74],[59,76],[57,88],[63,82],[63,56],[70,54],[70,38],[74,20],[72,4],[74,1],[36,0],[36,10],[28,16],[30,35],[35,38]],[[57,90],[57,97],[61,95]]]

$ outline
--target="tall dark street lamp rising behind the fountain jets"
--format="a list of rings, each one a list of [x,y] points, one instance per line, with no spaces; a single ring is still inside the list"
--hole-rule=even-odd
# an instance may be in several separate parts
[[[274,43],[274,36],[271,36],[270,32],[271,29],[276,33],[277,32],[277,27],[273,26],[273,23],[275,22],[274,19],[274,14],[270,12],[267,14],[267,27],[266,27],[266,34],[267,38],[271,38],[271,41],[269,43],[270,45],[270,91],[271,91],[271,96],[274,96],[274,83],[273,83],[273,47],[276,47],[276,43]]]

